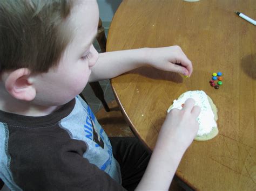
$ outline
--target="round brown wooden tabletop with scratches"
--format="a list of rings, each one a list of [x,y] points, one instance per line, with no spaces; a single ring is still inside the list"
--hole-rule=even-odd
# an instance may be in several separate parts
[[[256,190],[256,1],[124,0],[107,51],[179,45],[193,63],[190,78],[143,67],[111,80],[133,131],[151,150],[166,111],[185,91],[204,90],[218,108],[217,137],[188,148],[177,175],[198,190]],[[213,72],[223,86],[210,86]]]

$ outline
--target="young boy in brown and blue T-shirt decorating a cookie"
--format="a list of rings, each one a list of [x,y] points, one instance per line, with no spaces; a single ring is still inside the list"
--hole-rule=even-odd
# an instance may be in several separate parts
[[[77,95],[145,65],[190,76],[192,63],[178,46],[98,54],[98,19],[96,0],[0,1],[0,178],[10,189],[169,189],[198,130],[194,101],[167,114],[150,158],[133,139],[109,140]]]

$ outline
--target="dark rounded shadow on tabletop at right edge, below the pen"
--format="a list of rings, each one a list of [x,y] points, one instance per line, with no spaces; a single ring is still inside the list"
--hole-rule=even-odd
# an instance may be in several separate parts
[[[256,54],[244,56],[241,59],[241,68],[245,74],[256,79]]]

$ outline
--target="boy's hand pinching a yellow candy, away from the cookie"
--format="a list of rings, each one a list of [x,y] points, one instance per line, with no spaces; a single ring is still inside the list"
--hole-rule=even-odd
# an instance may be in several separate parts
[[[190,76],[193,72],[192,63],[179,46],[148,48],[147,63],[157,69],[177,72]]]

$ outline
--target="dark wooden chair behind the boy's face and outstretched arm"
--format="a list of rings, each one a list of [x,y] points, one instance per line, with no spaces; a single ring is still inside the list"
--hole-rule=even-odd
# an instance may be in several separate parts
[[[99,18],[99,24],[98,24],[98,34],[97,34],[97,41],[100,46],[100,50],[102,52],[106,52],[106,36],[105,36],[105,30],[102,26],[102,20]],[[96,95],[96,97],[102,102],[104,109],[109,112],[109,106],[107,105],[105,98],[104,98],[104,92],[102,87],[100,86],[99,82],[91,82],[89,83],[93,93]],[[81,93],[80,96],[85,100],[83,94]]]

